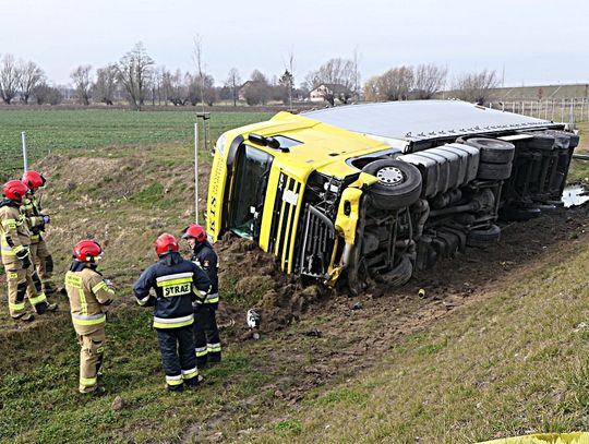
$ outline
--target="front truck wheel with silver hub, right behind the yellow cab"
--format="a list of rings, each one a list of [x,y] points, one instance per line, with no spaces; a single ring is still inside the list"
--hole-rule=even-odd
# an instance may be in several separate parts
[[[421,172],[402,160],[381,159],[362,168],[378,179],[370,188],[372,205],[378,209],[396,209],[414,204],[421,194]]]

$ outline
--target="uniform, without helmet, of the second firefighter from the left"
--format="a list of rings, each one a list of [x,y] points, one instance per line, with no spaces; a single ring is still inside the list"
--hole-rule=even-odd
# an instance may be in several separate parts
[[[55,292],[51,285],[51,276],[53,274],[53,257],[47,250],[47,243],[45,242],[45,221],[40,213],[41,207],[35,197],[35,194],[28,193],[23,199],[21,205],[21,213],[23,213],[27,219],[28,228],[31,230],[31,261],[35,265],[39,278],[43,285],[43,291],[46,296],[51,296]]]

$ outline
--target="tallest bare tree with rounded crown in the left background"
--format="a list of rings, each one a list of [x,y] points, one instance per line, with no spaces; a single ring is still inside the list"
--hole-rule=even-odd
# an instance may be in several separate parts
[[[117,64],[117,76],[124,86],[129,104],[137,111],[141,111],[145,101],[149,73],[154,63],[154,59],[147,55],[140,41]]]

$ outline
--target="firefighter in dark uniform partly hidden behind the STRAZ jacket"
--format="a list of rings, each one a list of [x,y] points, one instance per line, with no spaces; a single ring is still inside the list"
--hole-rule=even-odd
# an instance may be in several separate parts
[[[213,247],[206,240],[204,228],[200,225],[188,226],[182,238],[192,249],[191,261],[203,268],[211,279],[211,293],[204,303],[196,301],[194,304],[194,346],[196,365],[201,369],[207,362],[218,363],[221,360],[219,328],[216,320],[216,311],[219,307],[218,260]]]

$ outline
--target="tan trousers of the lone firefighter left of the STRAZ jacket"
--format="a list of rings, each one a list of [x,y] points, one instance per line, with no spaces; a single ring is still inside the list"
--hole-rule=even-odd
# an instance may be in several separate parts
[[[105,325],[92,333],[77,334],[80,344],[80,393],[92,393],[98,386],[98,372],[105,357]]]

